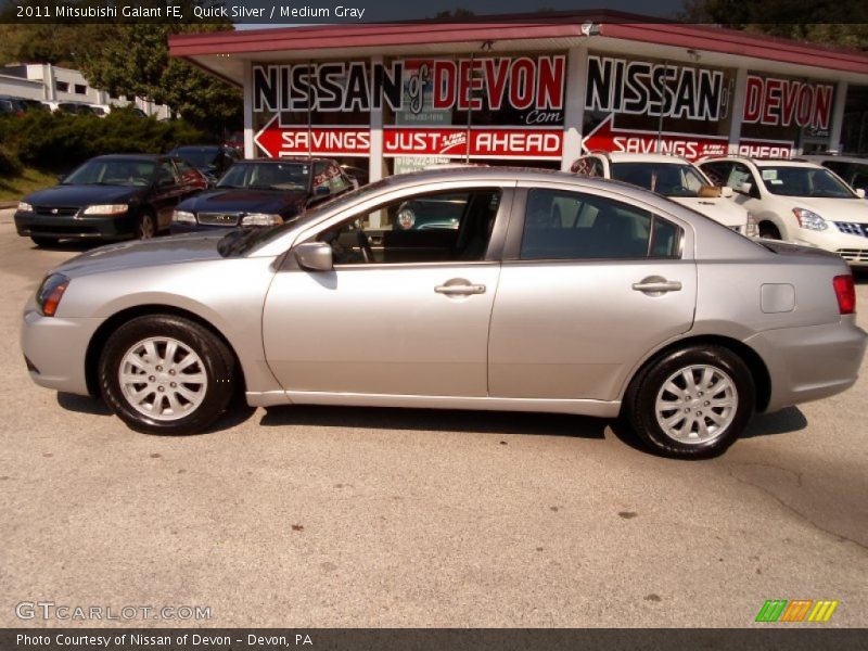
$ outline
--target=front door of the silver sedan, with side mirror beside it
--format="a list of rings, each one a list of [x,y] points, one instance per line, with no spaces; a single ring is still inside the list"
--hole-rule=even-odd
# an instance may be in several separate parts
[[[449,192],[457,190],[468,195],[459,229],[394,229],[401,206],[417,199],[405,191],[299,235],[330,243],[334,268],[307,271],[290,255],[266,298],[265,354],[291,399],[487,394],[505,228],[495,225],[505,222],[512,191]]]

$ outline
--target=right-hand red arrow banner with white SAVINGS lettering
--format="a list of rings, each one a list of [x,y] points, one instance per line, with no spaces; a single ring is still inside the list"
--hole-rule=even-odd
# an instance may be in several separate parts
[[[729,141],[726,136],[702,136],[673,133],[669,131],[643,131],[616,129],[614,115],[610,114],[582,141],[585,152],[628,152],[633,154],[673,154],[688,161],[703,156],[727,154]],[[739,153],[756,157],[781,157],[792,155],[793,143],[789,141],[755,140],[742,138]]]

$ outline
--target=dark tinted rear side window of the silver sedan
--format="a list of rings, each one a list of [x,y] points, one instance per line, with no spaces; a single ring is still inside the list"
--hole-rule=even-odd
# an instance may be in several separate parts
[[[630,204],[534,189],[527,193],[521,258],[674,258],[680,237],[676,225]]]

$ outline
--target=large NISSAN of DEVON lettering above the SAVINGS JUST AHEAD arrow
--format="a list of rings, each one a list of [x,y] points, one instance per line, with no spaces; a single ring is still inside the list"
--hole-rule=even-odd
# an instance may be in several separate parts
[[[425,78],[412,86],[419,93],[405,106],[405,66]],[[394,61],[391,65],[361,61],[253,66],[254,112],[420,112],[421,97],[432,93],[435,111],[562,111],[563,55],[432,60],[427,65]]]

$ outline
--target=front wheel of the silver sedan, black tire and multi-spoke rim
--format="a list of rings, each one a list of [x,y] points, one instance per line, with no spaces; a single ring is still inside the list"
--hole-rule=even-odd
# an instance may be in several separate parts
[[[139,317],[106,342],[99,379],[108,407],[137,432],[194,434],[229,405],[234,357],[199,323],[169,315]]]

